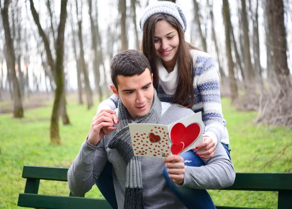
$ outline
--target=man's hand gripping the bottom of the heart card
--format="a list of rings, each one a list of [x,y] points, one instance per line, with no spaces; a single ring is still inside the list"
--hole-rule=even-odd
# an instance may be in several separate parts
[[[165,157],[163,162],[169,174],[169,178],[176,184],[182,184],[184,178],[184,160],[179,155]]]

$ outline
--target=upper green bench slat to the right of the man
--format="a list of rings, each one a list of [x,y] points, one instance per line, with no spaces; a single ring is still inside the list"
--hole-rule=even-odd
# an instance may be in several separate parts
[[[292,173],[236,173],[231,187],[222,190],[291,190]]]

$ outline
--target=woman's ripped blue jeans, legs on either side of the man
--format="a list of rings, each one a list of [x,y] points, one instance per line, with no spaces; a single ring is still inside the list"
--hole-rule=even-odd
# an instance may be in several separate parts
[[[227,155],[230,158],[229,145],[222,144],[225,148]],[[204,165],[204,162],[199,156],[194,154],[192,150],[184,152],[180,155],[184,160],[188,160],[184,163],[186,166],[200,167]],[[192,189],[189,187],[178,187],[169,178],[166,168],[163,171],[164,178],[170,190],[183,202],[188,209],[216,209],[215,205],[206,190]],[[96,186],[108,201],[112,209],[118,209],[118,204],[114,192],[113,180],[112,180],[112,164],[108,161],[103,171],[100,173],[98,179],[95,181]]]

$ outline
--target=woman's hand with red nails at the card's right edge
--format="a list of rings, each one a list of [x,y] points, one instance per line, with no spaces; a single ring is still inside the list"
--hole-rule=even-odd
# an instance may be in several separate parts
[[[200,156],[202,159],[208,159],[213,157],[215,153],[215,142],[213,139],[209,136],[203,136],[203,142],[201,144],[198,144],[196,148],[193,150],[195,151],[202,151],[197,152],[197,155]]]

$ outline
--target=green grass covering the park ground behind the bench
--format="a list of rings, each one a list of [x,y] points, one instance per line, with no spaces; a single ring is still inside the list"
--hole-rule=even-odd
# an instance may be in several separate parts
[[[46,107],[28,109],[25,118],[13,119],[12,114],[0,114],[0,209],[16,209],[18,193],[25,187],[21,178],[23,165],[69,167],[90,129],[97,103],[90,111],[68,99],[67,111],[72,126],[60,121],[62,145],[50,145],[50,115],[52,102]],[[237,172],[291,172],[292,130],[271,128],[252,123],[255,112],[237,112],[222,99],[224,117],[230,135],[231,157]],[[6,105],[6,104],[5,104]],[[4,107],[0,103],[0,107]],[[275,192],[244,192],[209,190],[216,205],[276,208]],[[41,181],[41,194],[68,195],[67,182]],[[94,186],[87,197],[102,197]]]

